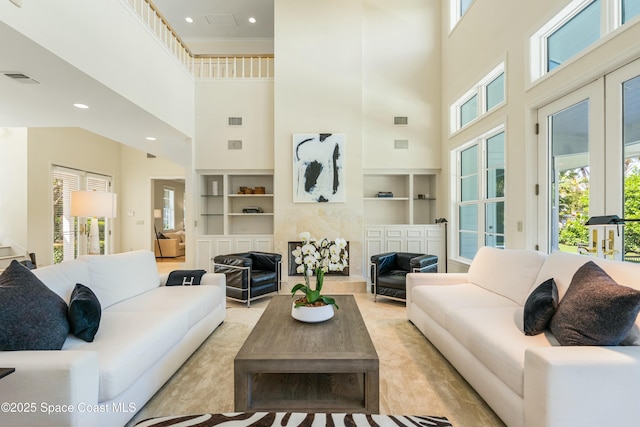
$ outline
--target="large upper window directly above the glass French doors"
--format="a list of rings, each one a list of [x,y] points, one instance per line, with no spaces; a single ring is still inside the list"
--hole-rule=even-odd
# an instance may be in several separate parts
[[[573,0],[530,39],[531,80],[584,52],[640,14],[640,0]]]

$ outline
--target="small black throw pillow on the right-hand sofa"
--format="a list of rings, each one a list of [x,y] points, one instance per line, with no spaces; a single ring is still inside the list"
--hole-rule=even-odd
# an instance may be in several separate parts
[[[558,287],[553,279],[541,283],[524,303],[524,333],[538,335],[544,331],[558,308]]]

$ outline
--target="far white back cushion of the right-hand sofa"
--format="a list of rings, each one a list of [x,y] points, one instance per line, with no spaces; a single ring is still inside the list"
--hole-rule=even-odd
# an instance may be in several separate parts
[[[482,247],[469,267],[469,282],[523,306],[547,256],[525,249]]]

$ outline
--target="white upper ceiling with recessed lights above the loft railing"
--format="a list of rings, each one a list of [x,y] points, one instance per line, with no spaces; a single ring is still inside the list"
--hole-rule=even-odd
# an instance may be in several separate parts
[[[153,0],[182,41],[273,39],[273,0]],[[193,23],[185,18],[190,17]],[[249,18],[256,19],[254,24]],[[215,52],[212,52],[215,53]]]

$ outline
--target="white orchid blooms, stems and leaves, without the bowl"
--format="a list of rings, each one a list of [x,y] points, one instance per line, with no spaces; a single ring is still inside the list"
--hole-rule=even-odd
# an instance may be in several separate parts
[[[295,296],[297,291],[302,291],[305,293],[305,297],[296,300],[296,307],[333,304],[339,308],[333,298],[323,296],[320,292],[325,273],[342,271],[349,265],[347,241],[340,237],[334,241],[327,238],[316,240],[306,231],[300,233],[300,240],[302,240],[302,246],[296,247],[292,254],[298,265],[296,272],[304,275],[304,283],[295,285],[291,290],[291,296]],[[314,274],[316,276],[315,289],[311,287],[309,280]]]

